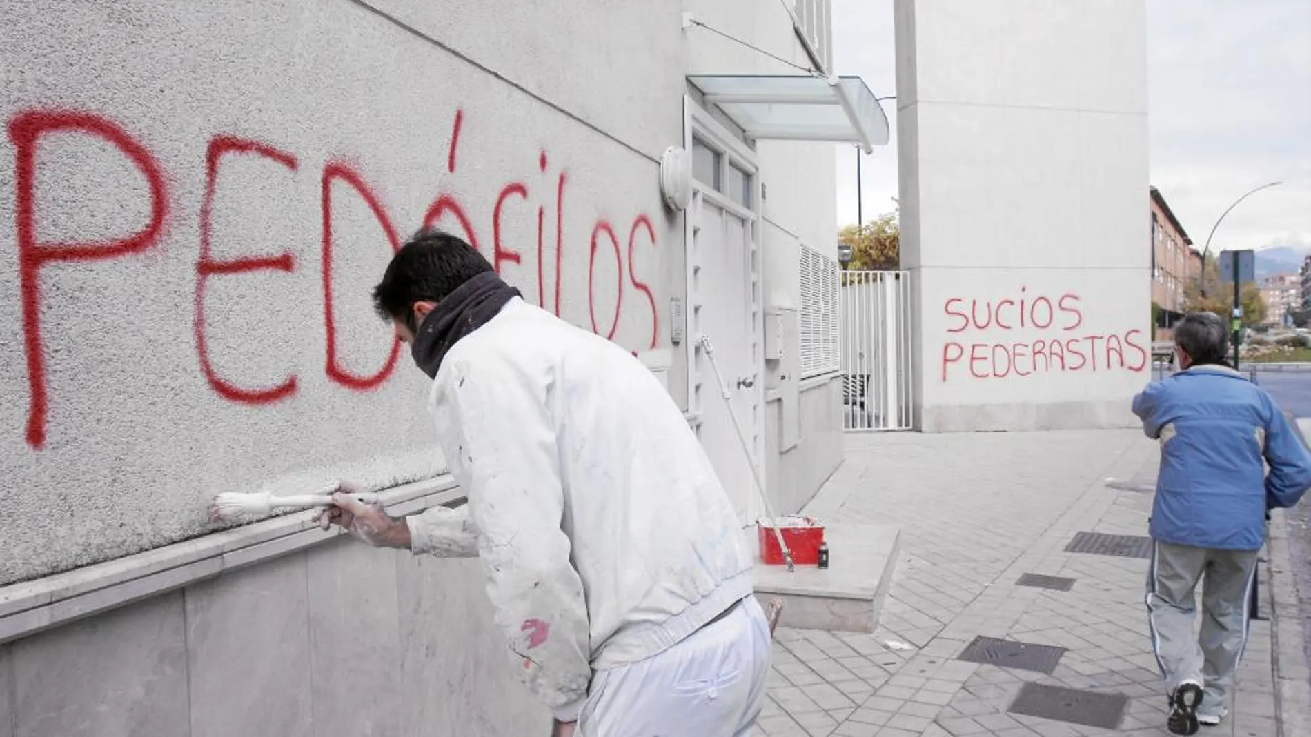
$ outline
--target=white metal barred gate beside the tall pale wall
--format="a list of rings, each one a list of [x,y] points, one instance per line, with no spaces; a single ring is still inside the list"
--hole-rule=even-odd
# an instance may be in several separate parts
[[[910,429],[910,272],[843,271],[839,284],[843,429]]]

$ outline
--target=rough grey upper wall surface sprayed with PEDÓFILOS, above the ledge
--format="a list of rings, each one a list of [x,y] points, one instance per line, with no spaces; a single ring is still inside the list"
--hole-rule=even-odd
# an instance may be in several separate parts
[[[368,302],[423,221],[667,348],[679,10],[0,0],[0,584],[202,534],[219,491],[440,470]]]

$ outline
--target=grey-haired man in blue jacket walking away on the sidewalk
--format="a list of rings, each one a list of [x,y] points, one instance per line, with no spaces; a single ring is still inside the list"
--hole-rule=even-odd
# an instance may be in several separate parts
[[[1183,370],[1134,397],[1134,414],[1160,440],[1147,623],[1169,694],[1167,727],[1194,734],[1228,713],[1265,514],[1311,487],[1311,453],[1270,395],[1224,363],[1228,331],[1217,314],[1186,315],[1175,343]]]

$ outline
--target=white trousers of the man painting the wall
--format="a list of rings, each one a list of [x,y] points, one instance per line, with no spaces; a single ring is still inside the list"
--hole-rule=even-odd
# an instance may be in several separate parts
[[[581,737],[741,737],[764,706],[770,623],[754,596],[673,648],[593,677]]]

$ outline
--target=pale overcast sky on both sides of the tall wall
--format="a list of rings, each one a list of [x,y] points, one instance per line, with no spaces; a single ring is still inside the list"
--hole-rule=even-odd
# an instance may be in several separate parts
[[[832,0],[836,72],[897,94],[891,0]],[[1311,249],[1311,0],[1147,0],[1151,183],[1201,249]],[[895,207],[893,139],[863,160],[864,216]],[[856,153],[839,147],[838,223],[856,220]],[[1147,194],[1143,192],[1143,207]]]

